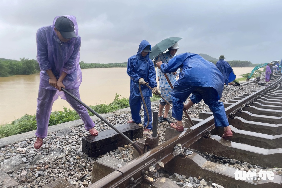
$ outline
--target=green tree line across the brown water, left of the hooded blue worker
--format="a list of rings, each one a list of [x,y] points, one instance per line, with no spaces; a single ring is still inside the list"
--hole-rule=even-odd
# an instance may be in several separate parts
[[[79,62],[81,69],[91,68],[111,68],[111,67],[127,67],[127,62],[124,63],[85,63]],[[12,75],[31,75],[39,73],[40,67],[35,59],[21,58],[18,60],[10,60],[0,58],[0,77],[12,76]]]

